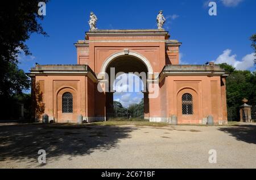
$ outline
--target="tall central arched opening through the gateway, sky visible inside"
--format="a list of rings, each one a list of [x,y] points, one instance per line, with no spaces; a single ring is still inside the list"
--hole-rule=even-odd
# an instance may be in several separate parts
[[[119,56],[109,63],[106,73],[109,76],[109,90],[106,92],[107,120],[148,119],[148,68],[143,61],[129,55]]]

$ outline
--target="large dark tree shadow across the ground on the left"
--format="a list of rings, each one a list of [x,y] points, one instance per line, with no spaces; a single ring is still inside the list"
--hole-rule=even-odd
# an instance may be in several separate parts
[[[0,161],[28,159],[37,162],[38,150],[47,152],[47,162],[62,155],[85,155],[94,150],[118,147],[121,139],[130,138],[135,127],[71,124],[15,124],[0,126]]]

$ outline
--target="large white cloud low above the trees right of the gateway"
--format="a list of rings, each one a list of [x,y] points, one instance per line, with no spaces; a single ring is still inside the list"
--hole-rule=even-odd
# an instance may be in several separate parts
[[[242,58],[241,61],[237,60],[237,55],[232,55],[231,49],[226,49],[222,55],[214,61],[215,64],[227,63],[233,65],[237,70],[247,70],[254,66],[255,53],[251,53]]]

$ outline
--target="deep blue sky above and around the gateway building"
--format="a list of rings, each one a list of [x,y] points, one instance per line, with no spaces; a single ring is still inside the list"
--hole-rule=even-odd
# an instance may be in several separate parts
[[[167,19],[164,28],[180,47],[181,63],[223,62],[237,69],[254,70],[249,37],[256,33],[255,0],[216,0],[217,16],[209,16],[208,0],[176,1],[60,1],[51,0],[42,22],[49,37],[32,34],[27,45],[32,56],[19,55],[19,67],[28,72],[39,64],[76,64],[77,40],[89,30],[90,11],[99,29],[153,29],[159,10]],[[138,94],[138,93],[137,93]],[[115,97],[115,99],[120,99]],[[133,99],[138,95],[131,95]],[[134,101],[135,102],[135,101]],[[137,101],[138,102],[138,101]]]

